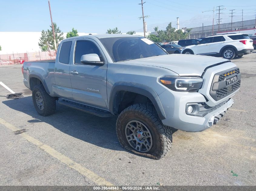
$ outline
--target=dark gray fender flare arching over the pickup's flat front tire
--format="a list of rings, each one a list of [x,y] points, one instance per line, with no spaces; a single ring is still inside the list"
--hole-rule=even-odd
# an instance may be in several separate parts
[[[109,111],[112,114],[116,115],[118,112],[115,99],[119,91],[130,91],[148,97],[153,103],[159,118],[161,120],[166,118],[164,108],[157,93],[149,86],[133,82],[117,82],[113,85],[109,98]]]

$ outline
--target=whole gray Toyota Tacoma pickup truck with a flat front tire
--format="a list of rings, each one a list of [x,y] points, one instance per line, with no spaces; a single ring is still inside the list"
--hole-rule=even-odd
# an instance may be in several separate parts
[[[62,40],[55,62],[25,62],[24,84],[36,111],[59,104],[101,117],[118,115],[122,147],[160,159],[172,145],[171,127],[188,132],[218,123],[240,88],[230,60],[169,55],[151,40],[122,34]]]

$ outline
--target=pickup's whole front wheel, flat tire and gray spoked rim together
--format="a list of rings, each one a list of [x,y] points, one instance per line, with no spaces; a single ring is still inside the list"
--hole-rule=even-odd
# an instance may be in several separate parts
[[[116,132],[121,146],[136,154],[160,159],[171,149],[171,128],[162,124],[151,105],[134,104],[123,110]]]

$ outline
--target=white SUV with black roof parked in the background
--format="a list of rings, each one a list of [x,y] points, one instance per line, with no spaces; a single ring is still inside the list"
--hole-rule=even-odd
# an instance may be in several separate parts
[[[221,34],[206,37],[197,45],[186,46],[181,54],[199,54],[206,56],[222,56],[225,59],[242,57],[253,52],[253,40],[248,34]]]

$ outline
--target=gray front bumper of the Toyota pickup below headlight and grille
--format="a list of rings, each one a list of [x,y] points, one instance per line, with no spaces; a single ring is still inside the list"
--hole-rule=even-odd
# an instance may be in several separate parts
[[[184,94],[183,92],[170,91],[166,90],[159,95],[166,115],[166,119],[163,119],[162,123],[182,131],[198,132],[208,129],[218,123],[218,120],[234,103],[234,100],[227,96],[227,100],[229,100],[225,104],[205,116],[191,116],[186,114],[186,104],[206,102],[204,96],[200,93]],[[172,101],[168,102],[167,100]]]

